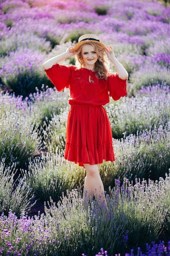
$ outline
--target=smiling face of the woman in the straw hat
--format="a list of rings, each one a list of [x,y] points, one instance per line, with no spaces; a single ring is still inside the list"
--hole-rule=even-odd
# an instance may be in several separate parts
[[[90,69],[94,67],[94,64],[98,60],[98,55],[96,54],[94,47],[89,44],[83,45],[81,49],[81,56],[85,63],[85,67]]]

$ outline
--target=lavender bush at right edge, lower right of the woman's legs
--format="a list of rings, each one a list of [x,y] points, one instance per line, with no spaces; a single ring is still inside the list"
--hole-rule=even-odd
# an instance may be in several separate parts
[[[160,178],[159,182],[150,179],[148,182],[144,179],[140,181],[136,178],[133,185],[124,178],[122,186],[120,180],[116,180],[111,191],[112,202],[116,202],[118,213],[126,215],[126,229],[131,231],[128,233],[130,244],[141,246],[158,237],[169,211],[169,185],[165,186],[167,182],[169,184],[169,179],[169,175],[166,175],[165,180]]]

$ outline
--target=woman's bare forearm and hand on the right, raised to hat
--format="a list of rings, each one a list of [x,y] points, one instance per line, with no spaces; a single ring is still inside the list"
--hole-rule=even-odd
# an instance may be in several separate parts
[[[115,66],[116,71],[118,72],[119,78],[125,80],[128,78],[128,72],[125,70],[125,68],[122,66],[122,64],[117,60],[115,57],[115,54],[113,52],[113,48],[111,46],[106,46],[105,52],[107,54],[107,57],[109,58],[109,61]]]

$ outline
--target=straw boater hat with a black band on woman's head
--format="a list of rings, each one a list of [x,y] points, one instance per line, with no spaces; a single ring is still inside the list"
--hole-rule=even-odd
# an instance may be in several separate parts
[[[98,45],[103,47],[103,49],[106,48],[105,45],[100,42],[100,40],[98,39],[98,36],[96,36],[94,34],[85,34],[78,38],[78,43],[74,46],[74,52],[77,52],[78,48],[81,45],[84,45],[86,43],[91,43],[91,42],[97,43]]]

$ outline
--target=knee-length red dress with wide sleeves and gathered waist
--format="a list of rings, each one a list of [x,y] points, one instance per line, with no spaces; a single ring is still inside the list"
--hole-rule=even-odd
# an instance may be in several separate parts
[[[70,89],[65,159],[80,166],[101,164],[104,159],[113,162],[112,131],[103,105],[109,103],[109,96],[118,100],[127,94],[126,80],[117,73],[98,79],[86,68],[59,64],[45,71],[58,91]]]

